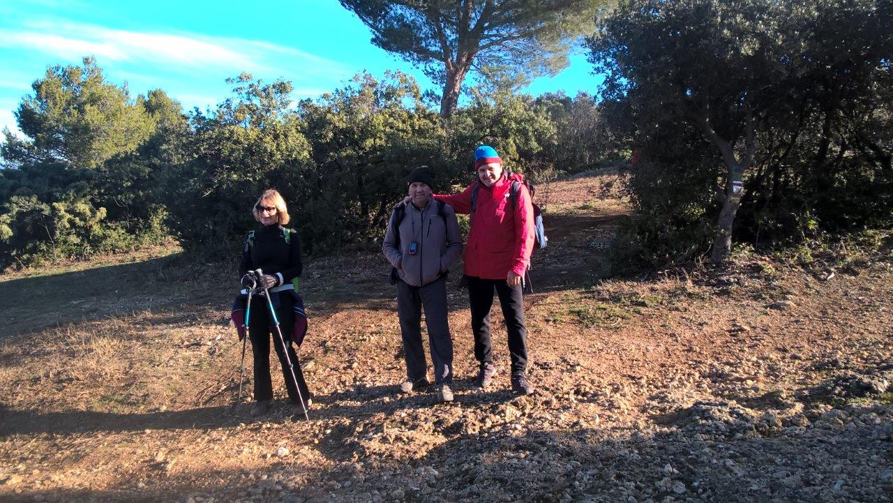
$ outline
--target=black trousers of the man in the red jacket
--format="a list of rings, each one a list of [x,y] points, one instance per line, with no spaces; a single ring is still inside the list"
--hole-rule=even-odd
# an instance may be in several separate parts
[[[490,337],[490,309],[493,295],[499,297],[508,331],[508,350],[512,355],[512,375],[527,369],[527,327],[524,325],[524,299],[522,285],[508,286],[505,280],[483,280],[468,276],[468,301],[472,306],[472,332],[474,333],[474,357],[481,364],[493,362],[493,345]]]

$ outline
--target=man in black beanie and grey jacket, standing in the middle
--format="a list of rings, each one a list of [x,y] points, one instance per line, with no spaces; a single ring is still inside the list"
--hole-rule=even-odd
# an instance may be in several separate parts
[[[453,340],[447,322],[447,269],[462,254],[455,211],[431,197],[426,166],[406,178],[409,197],[396,205],[381,250],[393,265],[397,314],[406,359],[400,391],[428,387],[428,364],[421,346],[421,308],[425,309],[438,402],[453,401]]]

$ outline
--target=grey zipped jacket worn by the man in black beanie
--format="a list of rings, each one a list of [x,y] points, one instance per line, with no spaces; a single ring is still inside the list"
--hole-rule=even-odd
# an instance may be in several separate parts
[[[462,254],[459,222],[453,206],[438,203],[434,197],[421,210],[409,201],[400,205],[405,205],[403,220],[398,225],[399,229],[393,229],[393,217],[388,221],[381,251],[388,257],[388,262],[396,267],[401,280],[413,287],[421,287],[447,272]],[[444,205],[445,218],[438,216],[438,205]],[[396,232],[400,233],[399,249],[396,247]],[[413,241],[418,243],[418,249],[411,255],[409,246]]]

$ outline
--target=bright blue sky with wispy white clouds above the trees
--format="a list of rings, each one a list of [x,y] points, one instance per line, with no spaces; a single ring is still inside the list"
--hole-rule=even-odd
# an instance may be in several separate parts
[[[0,128],[17,130],[13,110],[47,66],[85,55],[134,96],[162,88],[185,108],[220,102],[230,92],[225,80],[242,71],[291,80],[296,98],[319,96],[363,70],[406,71],[422,88],[435,88],[421,71],[372,46],[369,30],[337,0],[18,0],[0,3]],[[585,55],[571,59],[526,92],[594,92],[600,79]]]

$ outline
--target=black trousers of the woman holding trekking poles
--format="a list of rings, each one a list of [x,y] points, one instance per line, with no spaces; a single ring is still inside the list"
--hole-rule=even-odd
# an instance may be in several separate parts
[[[271,293],[271,298],[274,301],[274,309],[276,310],[276,316],[279,318],[280,330],[285,337],[288,358],[293,365],[292,369],[295,371],[295,376],[292,377],[291,370],[288,368],[288,360],[282,351],[282,341],[273,323],[270,308],[267,305],[267,298],[255,295],[251,298],[251,313],[248,320],[248,338],[251,340],[252,355],[255,359],[255,400],[269,400],[273,398],[273,384],[270,377],[270,341],[272,340],[273,348],[276,349],[276,356],[279,356],[280,365],[282,366],[282,377],[285,379],[288,398],[294,403],[300,403],[295,388],[295,380],[297,380],[297,385],[300,386],[301,390],[301,397],[304,398],[304,405],[306,406],[307,398],[310,397],[310,391],[307,390],[304,373],[301,372],[301,365],[297,361],[295,348],[291,345],[290,337],[295,324],[295,312],[292,309],[295,299],[291,295],[280,295],[277,293]]]

